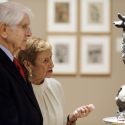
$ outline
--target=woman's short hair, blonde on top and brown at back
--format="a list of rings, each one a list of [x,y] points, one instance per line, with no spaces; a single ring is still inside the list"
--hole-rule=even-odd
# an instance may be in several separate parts
[[[52,47],[49,42],[41,38],[30,37],[26,42],[25,50],[21,50],[18,53],[18,59],[21,64],[23,64],[24,60],[27,60],[35,65],[37,54],[46,50],[51,50],[51,48]]]

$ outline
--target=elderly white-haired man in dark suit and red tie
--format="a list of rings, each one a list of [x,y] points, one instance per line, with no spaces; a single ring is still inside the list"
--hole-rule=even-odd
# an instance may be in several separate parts
[[[13,63],[15,52],[31,36],[30,16],[23,5],[0,4],[0,125],[43,124],[31,84]]]

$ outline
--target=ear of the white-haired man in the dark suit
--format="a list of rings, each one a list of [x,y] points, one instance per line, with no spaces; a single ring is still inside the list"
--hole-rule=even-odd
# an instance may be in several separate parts
[[[7,24],[5,23],[0,23],[0,36],[3,39],[7,38]]]

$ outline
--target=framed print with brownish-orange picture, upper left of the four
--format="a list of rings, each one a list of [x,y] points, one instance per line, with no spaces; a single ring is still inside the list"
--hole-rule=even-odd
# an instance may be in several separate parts
[[[47,32],[75,32],[77,0],[47,0]]]

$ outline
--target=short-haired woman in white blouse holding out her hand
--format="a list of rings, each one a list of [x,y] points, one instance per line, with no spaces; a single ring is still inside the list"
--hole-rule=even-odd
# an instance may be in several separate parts
[[[81,106],[65,119],[62,86],[59,81],[51,78],[54,64],[49,42],[31,37],[27,40],[26,49],[19,52],[18,59],[25,69],[27,80],[32,83],[44,125],[73,125],[78,118],[92,111],[93,105]]]

